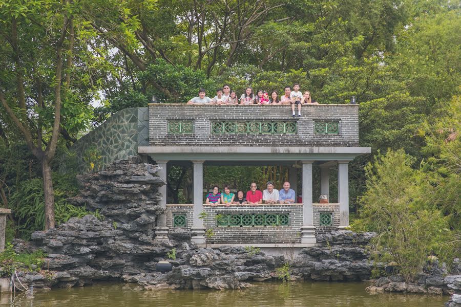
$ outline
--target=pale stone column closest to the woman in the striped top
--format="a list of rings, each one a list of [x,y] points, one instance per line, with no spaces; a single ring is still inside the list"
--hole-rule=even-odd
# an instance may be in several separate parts
[[[194,165],[194,226],[191,230],[196,235],[192,237],[192,242],[205,244],[205,228],[199,214],[203,211],[203,162],[204,160],[192,161]]]

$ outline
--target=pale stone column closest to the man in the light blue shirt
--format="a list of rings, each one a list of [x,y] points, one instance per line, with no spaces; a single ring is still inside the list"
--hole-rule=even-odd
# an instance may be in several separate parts
[[[312,162],[303,163],[303,226],[301,227],[301,243],[315,244],[316,227],[312,223]]]

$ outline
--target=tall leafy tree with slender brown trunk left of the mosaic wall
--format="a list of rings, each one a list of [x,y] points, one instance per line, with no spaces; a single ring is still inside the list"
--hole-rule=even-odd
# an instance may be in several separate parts
[[[51,163],[59,136],[75,139],[91,119],[96,64],[82,15],[72,0],[0,1],[0,102],[8,129],[40,161],[45,229],[55,226]]]

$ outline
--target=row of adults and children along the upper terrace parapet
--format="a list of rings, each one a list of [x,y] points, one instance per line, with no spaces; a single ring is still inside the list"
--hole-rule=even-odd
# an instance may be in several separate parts
[[[259,90],[256,95],[253,92],[252,87],[247,87],[245,93],[237,98],[237,94],[231,90],[231,86],[224,84],[222,89],[216,91],[216,96],[209,98],[206,96],[205,90],[200,89],[199,96],[192,98],[187,104],[217,104],[217,105],[291,105],[291,111],[293,117],[295,117],[295,108],[298,106],[298,117],[301,117],[301,105],[316,105],[319,104],[317,101],[312,100],[309,91],[305,91],[304,94],[300,92],[300,86],[298,83],[291,86],[285,86],[285,94],[279,98],[277,91],[272,91],[270,95],[263,90]]]

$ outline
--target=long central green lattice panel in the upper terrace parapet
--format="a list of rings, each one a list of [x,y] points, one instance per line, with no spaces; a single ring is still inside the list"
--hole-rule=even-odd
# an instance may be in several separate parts
[[[212,134],[297,134],[296,121],[214,121]]]

